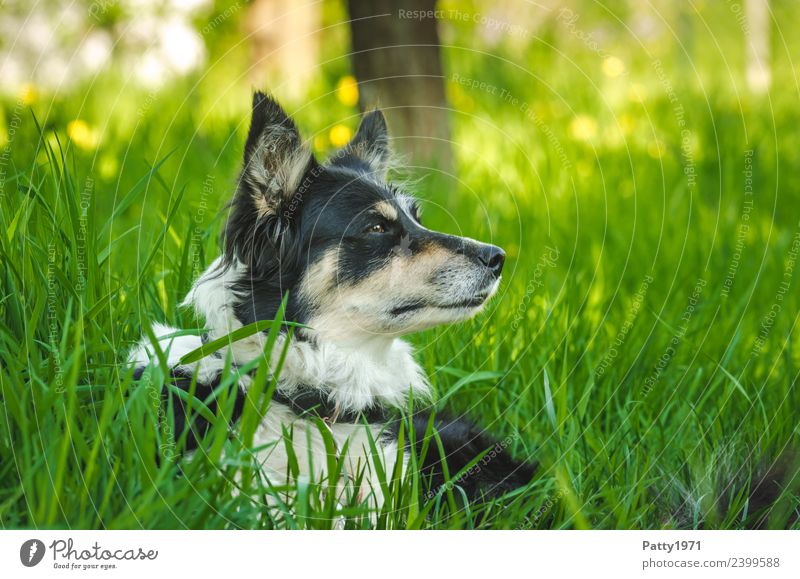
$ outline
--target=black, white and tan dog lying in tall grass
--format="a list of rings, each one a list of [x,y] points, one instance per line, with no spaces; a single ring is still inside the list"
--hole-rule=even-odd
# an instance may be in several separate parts
[[[265,334],[196,364],[181,365],[181,357],[204,340],[273,319],[288,292],[285,319],[304,327],[290,340],[254,444],[263,447],[291,429],[296,456],[309,457],[309,464],[299,465],[302,473],[324,476],[326,449],[312,417],[323,418],[339,448],[349,441],[348,468],[364,469],[369,488],[363,495],[377,505],[381,486],[374,478],[369,436],[379,442],[383,468],[391,472],[396,457],[409,452],[398,453],[396,414],[408,408],[412,393],[414,400],[429,397],[426,376],[400,337],[475,315],[497,291],[505,259],[499,247],[425,228],[417,202],[385,182],[388,161],[379,111],[365,115],[352,141],[321,164],[283,109],[256,93],[223,255],[184,302],[205,320],[207,334],[160,340],[174,383],[186,388],[196,376],[196,396],[205,398],[220,383],[227,357],[242,365],[263,355]],[[177,331],[154,329],[157,336]],[[139,375],[154,358],[152,350],[145,340],[132,352]],[[277,352],[273,358],[277,363]],[[237,413],[251,379],[240,382]],[[193,437],[207,427],[178,406],[184,412],[176,416],[176,427],[190,419]],[[430,438],[429,415],[415,416],[413,424],[421,446],[426,432]],[[426,445],[422,471],[432,492],[444,483],[443,461],[455,477],[487,451],[491,460],[457,483],[470,499],[531,480],[532,465],[512,460],[505,446],[465,421],[434,424],[445,456],[436,443]],[[263,451],[259,460],[267,477],[286,480],[284,444]]]

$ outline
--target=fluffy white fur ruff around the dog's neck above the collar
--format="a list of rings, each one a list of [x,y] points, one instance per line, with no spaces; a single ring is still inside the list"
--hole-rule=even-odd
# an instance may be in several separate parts
[[[217,258],[198,278],[183,305],[194,309],[205,321],[208,339],[223,337],[242,327],[234,312],[241,296],[231,287],[245,273],[239,263],[224,264]],[[281,336],[273,351],[274,369],[286,338]],[[196,371],[199,378],[212,377],[224,367],[230,354],[234,364],[246,364],[263,355],[266,337],[259,333],[226,347],[216,356],[204,358]],[[244,380],[242,386],[247,387]],[[278,393],[294,397],[308,389],[325,393],[332,405],[343,413],[369,412],[380,408],[405,408],[414,398],[430,395],[427,378],[414,360],[411,347],[398,338],[376,337],[358,345],[325,339],[313,328],[303,330],[300,339],[290,341],[278,378]]]

